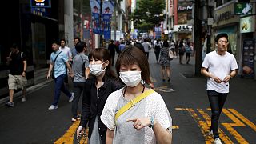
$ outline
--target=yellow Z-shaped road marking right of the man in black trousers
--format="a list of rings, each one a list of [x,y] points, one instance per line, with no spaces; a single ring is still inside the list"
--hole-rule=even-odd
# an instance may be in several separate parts
[[[245,138],[242,138],[242,135],[240,135],[236,130],[234,130],[233,127],[235,126],[246,126],[244,123],[242,123],[238,118],[236,118],[233,114],[230,113],[227,109],[222,109],[222,112],[226,114],[234,123],[222,123],[222,125],[234,136],[235,139],[238,140],[238,142],[246,144],[248,143]]]

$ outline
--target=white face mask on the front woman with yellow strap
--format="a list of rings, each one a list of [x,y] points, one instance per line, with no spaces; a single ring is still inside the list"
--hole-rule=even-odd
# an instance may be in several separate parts
[[[142,71],[124,71],[119,72],[119,78],[126,84],[126,86],[134,87],[142,81]]]

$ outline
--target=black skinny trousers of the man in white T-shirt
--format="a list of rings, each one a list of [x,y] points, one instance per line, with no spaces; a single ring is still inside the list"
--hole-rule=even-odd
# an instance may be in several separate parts
[[[214,139],[219,138],[218,135],[218,119],[222,113],[222,108],[226,101],[227,93],[218,93],[214,90],[207,91],[210,109],[211,109],[211,126],[210,130],[213,130]]]

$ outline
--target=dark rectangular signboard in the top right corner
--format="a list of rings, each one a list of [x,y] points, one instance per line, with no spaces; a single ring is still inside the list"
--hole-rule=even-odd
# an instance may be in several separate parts
[[[247,15],[252,14],[253,6],[250,2],[237,2],[234,3],[234,14]]]

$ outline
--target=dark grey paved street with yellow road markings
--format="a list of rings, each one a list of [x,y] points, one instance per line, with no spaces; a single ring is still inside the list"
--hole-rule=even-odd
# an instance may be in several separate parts
[[[184,57],[185,58],[185,57]],[[210,105],[206,79],[194,78],[194,57],[189,65],[171,62],[170,82],[162,82],[160,66],[150,53],[150,73],[173,118],[173,143],[210,143]],[[185,61],[183,63],[186,63]],[[225,143],[256,143],[255,90],[253,79],[233,78],[220,118]],[[18,99],[14,108],[0,106],[0,143],[72,143],[78,122],[71,122],[71,104],[62,94],[58,110],[47,110],[53,101],[54,83],[43,85]],[[60,139],[59,139],[60,138]]]

